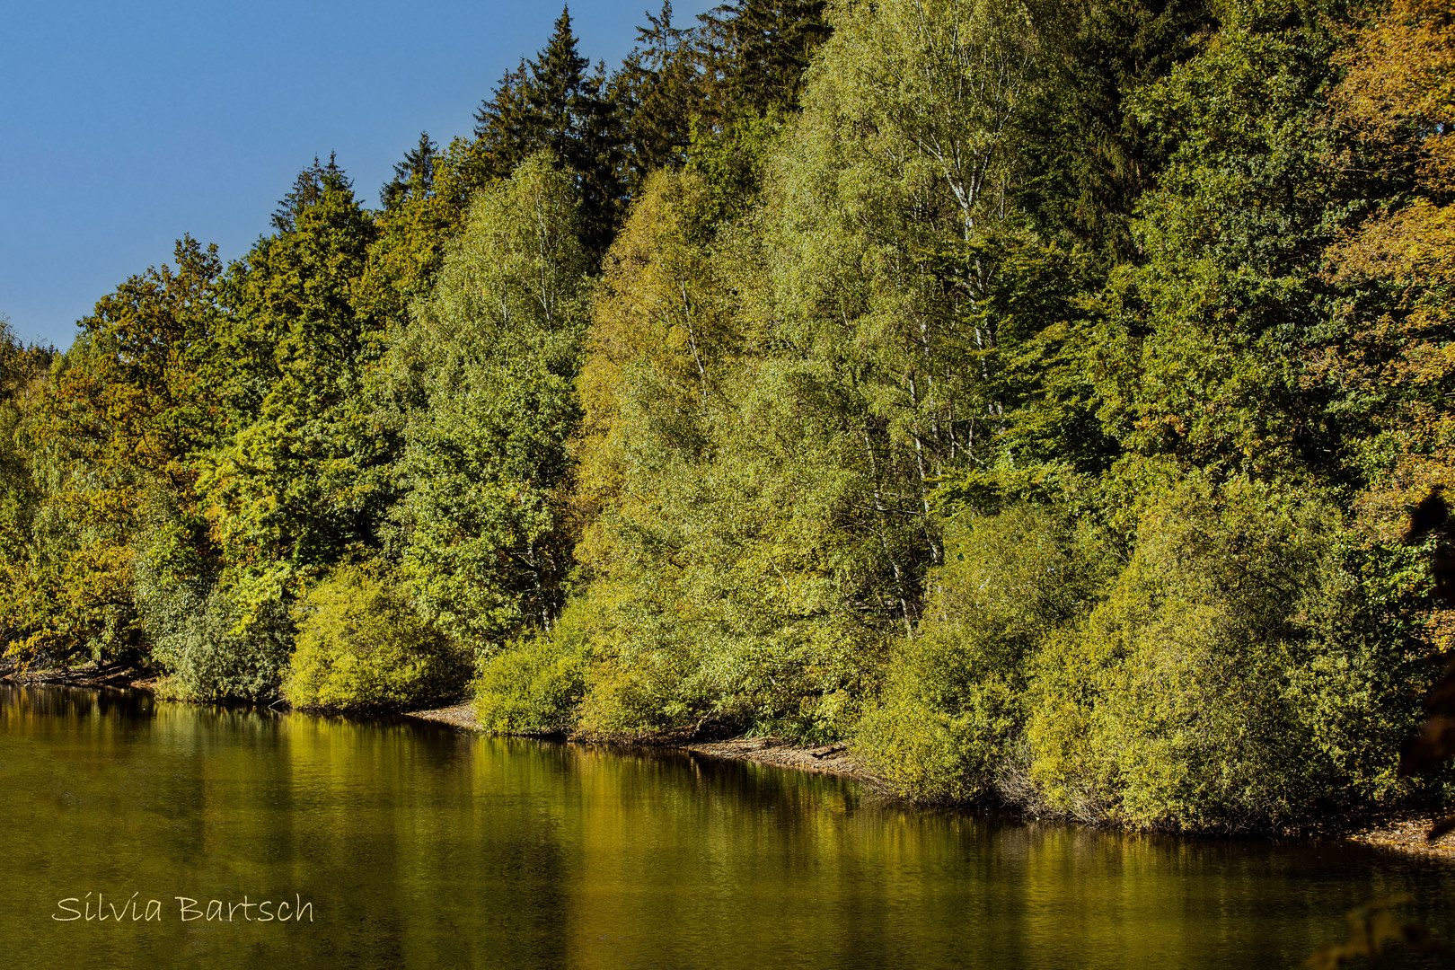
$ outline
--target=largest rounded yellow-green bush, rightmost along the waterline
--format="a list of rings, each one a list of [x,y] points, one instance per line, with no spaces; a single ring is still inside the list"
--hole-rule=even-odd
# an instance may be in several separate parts
[[[1407,650],[1353,636],[1378,622],[1347,553],[1328,506],[1256,484],[1149,503],[1110,595],[1037,656],[1027,740],[1045,804],[1238,830],[1397,794]]]

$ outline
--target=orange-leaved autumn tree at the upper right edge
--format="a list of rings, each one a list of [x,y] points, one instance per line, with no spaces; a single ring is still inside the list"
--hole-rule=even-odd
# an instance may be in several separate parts
[[[1397,0],[1340,55],[1340,159],[1371,204],[1327,250],[1327,276],[1352,291],[1312,371],[1368,417],[1365,512],[1382,537],[1406,506],[1455,483],[1455,42],[1452,13]],[[1446,641],[1448,643],[1448,641]]]

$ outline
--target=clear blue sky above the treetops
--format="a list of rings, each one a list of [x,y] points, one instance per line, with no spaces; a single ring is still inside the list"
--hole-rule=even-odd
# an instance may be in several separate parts
[[[679,0],[690,26],[716,0]],[[570,4],[608,68],[661,0]],[[419,137],[469,134],[559,3],[112,0],[6,4],[0,29],[0,314],[70,345],[76,320],[191,233],[236,259],[314,154],[368,205]]]

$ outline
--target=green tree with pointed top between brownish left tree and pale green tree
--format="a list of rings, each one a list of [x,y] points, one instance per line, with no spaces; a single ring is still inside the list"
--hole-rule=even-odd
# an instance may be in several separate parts
[[[275,225],[228,273],[202,369],[227,433],[199,460],[198,489],[223,582],[253,605],[377,545],[391,455],[362,393],[384,334],[352,302],[374,221],[330,159],[304,169]]]

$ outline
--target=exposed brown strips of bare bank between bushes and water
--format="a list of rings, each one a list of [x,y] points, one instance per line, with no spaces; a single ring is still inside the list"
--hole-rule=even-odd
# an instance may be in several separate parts
[[[138,676],[140,675],[140,676]],[[0,668],[0,681],[12,684],[39,684],[51,686],[84,686],[84,688],[113,688],[137,689],[148,694],[156,692],[156,676],[141,675],[141,672],[127,665],[83,665],[80,668],[36,670],[33,673],[19,673],[13,666]],[[402,717],[409,717],[435,724],[447,724],[457,730],[483,734],[485,730],[474,720],[474,701],[463,700],[445,707],[434,707],[418,711],[403,711]],[[751,761],[774,768],[790,771],[808,771],[815,774],[837,775],[851,778],[874,794],[896,797],[893,788],[879,775],[860,763],[850,746],[844,742],[816,745],[803,747],[783,737],[735,737],[728,740],[688,740],[688,737],[674,739],[671,734],[659,737],[623,737],[602,739],[607,743],[636,746],[636,747],[666,747],[685,750],[709,758],[728,761]],[[591,743],[570,742],[570,743]],[[1330,841],[1355,842],[1374,848],[1382,848],[1403,855],[1423,857],[1426,859],[1440,859],[1455,862],[1455,832],[1448,833],[1433,843],[1426,842],[1424,832],[1435,823],[1435,817],[1419,810],[1387,810],[1372,813],[1366,819],[1339,826],[1334,822],[1307,827],[1289,836],[1299,841]]]

